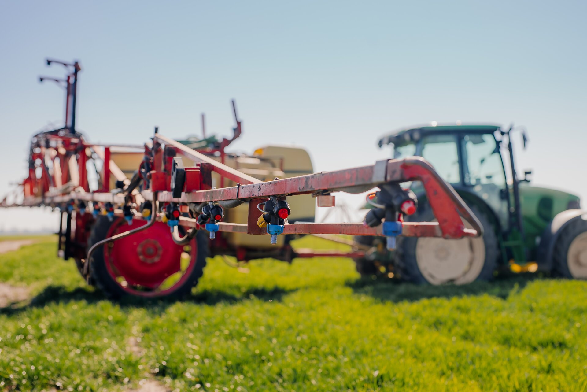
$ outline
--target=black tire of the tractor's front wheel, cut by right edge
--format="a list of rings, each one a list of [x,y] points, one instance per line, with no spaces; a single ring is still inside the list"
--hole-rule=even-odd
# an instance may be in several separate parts
[[[581,217],[573,219],[562,229],[556,239],[554,252],[552,253],[554,275],[569,279],[587,279],[587,273],[585,273],[584,269],[583,271],[576,270],[576,267],[585,268],[582,264],[585,263],[585,258],[587,258],[587,241],[585,235],[579,239],[578,236],[586,232],[587,221]],[[571,250],[571,245],[575,241],[580,242],[575,243],[572,254],[570,254],[569,250]],[[572,263],[581,263],[581,265],[573,268]]]

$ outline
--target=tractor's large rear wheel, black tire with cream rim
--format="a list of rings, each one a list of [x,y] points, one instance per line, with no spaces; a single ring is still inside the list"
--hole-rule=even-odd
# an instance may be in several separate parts
[[[416,215],[410,217],[410,221],[436,220],[430,205],[421,205],[420,208]],[[431,285],[463,285],[491,280],[500,252],[497,236],[487,216],[478,208],[471,209],[484,228],[485,233],[481,237],[398,237],[394,269],[400,278]],[[465,227],[470,228],[467,222],[463,222]]]

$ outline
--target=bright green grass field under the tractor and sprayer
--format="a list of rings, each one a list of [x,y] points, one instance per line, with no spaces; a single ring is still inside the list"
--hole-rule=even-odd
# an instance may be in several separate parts
[[[45,237],[0,255],[0,282],[31,290],[0,309],[0,390],[587,391],[587,282],[421,287],[361,281],[349,259],[216,258],[183,302],[112,303],[55,254]]]

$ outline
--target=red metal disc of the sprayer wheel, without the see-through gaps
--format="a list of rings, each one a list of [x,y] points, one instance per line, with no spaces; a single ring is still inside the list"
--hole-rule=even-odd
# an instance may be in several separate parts
[[[117,219],[110,227],[107,236],[113,236],[145,225],[145,221],[134,219],[127,224],[124,219]],[[190,243],[191,261],[188,275],[195,263],[197,249],[195,241]],[[104,261],[110,275],[116,280],[122,276],[129,285],[139,285],[154,289],[161,285],[170,275],[181,271],[181,253],[184,246],[177,245],[171,239],[169,227],[163,222],[127,237],[114,241],[111,246],[104,245]]]

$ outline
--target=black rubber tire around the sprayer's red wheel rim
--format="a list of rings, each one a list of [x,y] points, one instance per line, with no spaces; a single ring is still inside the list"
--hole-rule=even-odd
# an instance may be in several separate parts
[[[96,242],[102,241],[106,238],[106,234],[114,222],[116,222],[116,219],[111,222],[107,217],[103,216],[96,219],[90,234],[90,238],[87,241],[88,250],[92,247],[93,244],[96,244]],[[198,234],[195,236],[195,241],[198,247],[198,254],[190,277],[183,283],[183,285],[178,286],[173,291],[167,292],[164,295],[155,297],[156,299],[181,299],[183,296],[189,294],[191,289],[198,284],[198,280],[202,277],[204,273],[204,267],[206,266],[206,257],[208,255],[208,239],[203,232],[198,232]],[[92,261],[90,263],[90,276],[93,285],[102,291],[107,298],[122,299],[124,297],[130,296],[129,292],[121,288],[108,272],[106,261],[104,259],[103,246],[99,246],[92,256]]]

